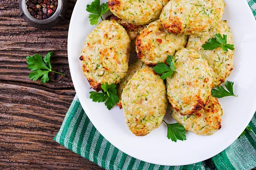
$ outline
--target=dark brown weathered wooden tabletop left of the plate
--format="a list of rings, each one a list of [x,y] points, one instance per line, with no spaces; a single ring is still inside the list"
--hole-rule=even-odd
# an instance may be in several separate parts
[[[19,17],[18,0],[0,0],[0,169],[101,169],[53,141],[76,94],[67,60],[75,3],[68,0],[66,21],[39,30]],[[33,82],[26,56],[48,51],[54,70],[66,76]]]

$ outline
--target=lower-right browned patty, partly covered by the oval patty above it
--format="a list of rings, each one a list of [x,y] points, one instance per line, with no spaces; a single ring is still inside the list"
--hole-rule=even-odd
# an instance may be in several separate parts
[[[210,96],[209,103],[197,113],[190,116],[182,116],[169,107],[172,117],[186,130],[194,132],[197,135],[212,135],[217,130],[221,129],[221,118],[223,111],[218,99]]]

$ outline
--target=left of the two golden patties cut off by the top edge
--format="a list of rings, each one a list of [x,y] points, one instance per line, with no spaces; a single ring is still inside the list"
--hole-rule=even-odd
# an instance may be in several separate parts
[[[128,23],[143,25],[157,20],[169,0],[108,0],[110,11]]]

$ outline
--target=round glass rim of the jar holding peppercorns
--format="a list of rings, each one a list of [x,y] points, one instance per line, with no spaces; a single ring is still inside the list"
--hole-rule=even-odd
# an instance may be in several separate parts
[[[37,18],[32,17],[31,14],[29,13],[28,9],[26,8],[26,0],[21,0],[21,8],[22,8],[23,14],[26,15],[26,17],[29,20],[31,20],[33,23],[37,23],[37,24],[47,24],[47,23],[50,23],[53,20],[57,19],[57,17],[61,13],[62,7],[63,7],[62,0],[58,0],[58,7],[57,7],[55,13],[51,17],[49,17],[45,20],[38,20]]]

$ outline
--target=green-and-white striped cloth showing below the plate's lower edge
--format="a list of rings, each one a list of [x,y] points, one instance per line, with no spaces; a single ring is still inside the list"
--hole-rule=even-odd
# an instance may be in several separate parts
[[[250,170],[256,167],[256,113],[249,124],[252,132],[206,161],[185,166],[160,166],[140,161],[108,142],[85,114],[76,96],[54,140],[107,170]]]

